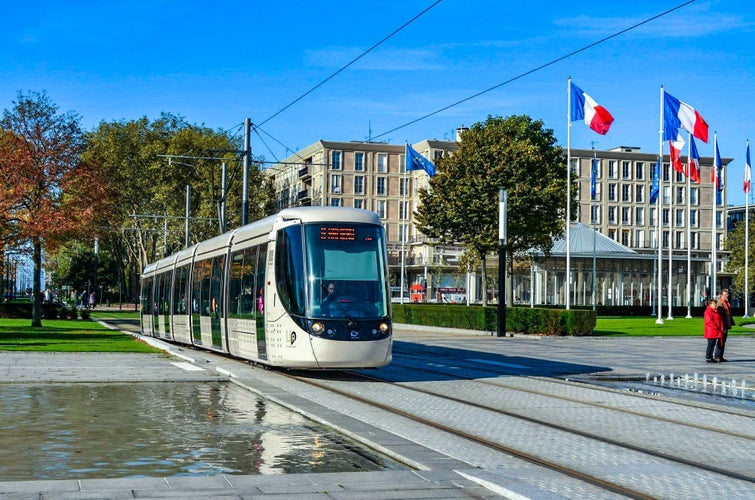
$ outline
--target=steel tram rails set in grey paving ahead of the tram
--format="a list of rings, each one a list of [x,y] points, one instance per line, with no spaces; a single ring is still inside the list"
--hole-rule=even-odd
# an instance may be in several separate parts
[[[411,369],[418,370],[416,367],[412,367]],[[427,370],[424,370],[424,371],[425,373],[427,373]],[[432,371],[432,372],[436,373],[435,371]],[[564,474],[565,476],[569,476],[569,477],[578,479],[580,481],[584,481],[587,484],[591,484],[593,486],[602,488],[606,491],[624,495],[630,498],[653,498],[656,496],[656,494],[642,491],[642,489],[640,488],[633,488],[631,486],[628,487],[626,484],[621,484],[620,482],[616,482],[610,479],[606,479],[604,477],[600,477],[599,474],[593,474],[589,470],[588,471],[580,470],[579,468],[570,466],[568,464],[563,463],[562,461],[559,461],[558,458],[551,459],[547,455],[532,453],[525,449],[521,449],[517,446],[505,444],[501,442],[500,440],[491,439],[489,436],[486,437],[486,436],[481,435],[480,433],[468,432],[467,430],[460,428],[458,426],[440,422],[437,419],[428,418],[428,417],[419,415],[417,414],[416,411],[402,409],[402,408],[399,408],[398,405],[378,401],[377,398],[375,397],[371,397],[369,395],[367,396],[359,395],[355,392],[355,390],[353,390],[349,386],[354,385],[353,382],[357,380],[369,381],[372,383],[379,383],[379,384],[387,384],[387,386],[389,387],[400,388],[401,390],[412,391],[413,393],[418,394],[418,395],[421,394],[421,395],[432,397],[432,398],[438,398],[439,400],[451,402],[457,405],[463,405],[464,407],[469,408],[470,411],[487,412],[498,417],[516,419],[517,421],[526,422],[527,424],[530,424],[533,426],[540,426],[540,427],[547,428],[549,429],[549,432],[565,433],[562,435],[569,435],[572,437],[576,436],[584,440],[600,443],[601,446],[615,447],[616,450],[625,450],[625,452],[631,451],[631,452],[639,453],[639,454],[642,454],[643,456],[651,457],[652,460],[662,460],[662,461],[668,462],[669,464],[676,464],[676,467],[685,467],[685,468],[689,468],[689,469],[700,471],[700,472],[716,474],[719,476],[729,478],[731,480],[744,481],[745,483],[749,483],[749,484],[755,483],[755,476],[749,473],[743,473],[741,471],[731,470],[725,467],[719,467],[717,465],[710,464],[710,463],[702,463],[698,458],[687,458],[685,456],[682,456],[680,453],[673,453],[673,452],[667,453],[663,450],[653,449],[652,447],[649,447],[649,446],[631,443],[631,442],[627,442],[626,440],[621,440],[621,439],[613,439],[611,437],[607,437],[605,435],[601,435],[595,432],[580,430],[580,429],[575,428],[574,426],[554,423],[552,421],[548,421],[545,418],[532,417],[532,416],[524,415],[518,411],[506,410],[498,406],[471,401],[470,398],[467,398],[467,397],[452,396],[449,394],[444,394],[437,390],[430,390],[426,388],[416,387],[416,386],[413,386],[411,384],[407,384],[404,382],[395,382],[386,378],[381,378],[380,376],[375,376],[373,374],[368,375],[368,374],[361,373],[358,371],[356,372],[355,371],[342,371],[336,379],[329,379],[329,378],[323,379],[323,377],[331,377],[333,375],[334,374],[332,373],[330,375],[320,375],[319,378],[315,378],[311,374],[307,374],[306,376],[297,376],[297,375],[289,374],[287,376],[294,376],[300,382],[319,387],[321,389],[336,393],[340,396],[350,398],[352,400],[370,405],[375,408],[379,408],[384,411],[388,411],[394,415],[402,416],[404,418],[410,419],[413,422],[417,422],[421,425],[429,426],[431,428],[434,428],[443,432],[447,432],[454,436],[458,436],[462,439],[466,439],[474,443],[481,444],[492,450],[505,453],[513,457],[517,457],[519,459],[525,460],[533,464],[540,465],[542,467],[558,472],[560,474]],[[444,375],[448,376],[447,373],[445,373]],[[478,381],[478,380],[468,380],[464,377],[457,377],[457,379],[464,380],[465,383],[487,382],[487,381]],[[338,385],[343,382],[346,382],[345,384],[346,387],[345,388],[338,387]],[[501,386],[496,383],[486,383],[482,385],[493,386],[492,387],[493,389],[522,391],[521,388],[506,387],[506,386]],[[372,392],[374,393],[376,391],[373,390]],[[546,398],[554,397],[552,394],[548,394],[543,391],[529,391],[529,393],[537,397],[546,397]],[[634,396],[632,394],[622,394],[622,395]],[[587,402],[583,400],[579,400],[575,398],[561,397],[560,400],[570,402],[570,403],[576,403],[580,405],[588,404]],[[600,411],[620,411],[620,410],[617,410],[615,407],[611,407],[609,405],[605,405],[601,403],[592,403],[592,406],[594,408],[599,409]],[[643,414],[642,412],[637,412],[634,410],[627,410],[624,413],[628,415],[632,415],[634,417],[641,417],[641,418],[653,419],[653,420],[658,420],[658,421],[665,420],[666,422],[671,422],[675,424],[676,423],[684,424],[684,422],[677,422],[673,419],[668,419],[668,418],[667,419],[657,418],[657,416],[655,415]],[[698,426],[692,426],[692,427],[694,428],[695,431],[700,431],[700,432],[710,433],[710,432],[717,431],[717,429],[715,428],[704,426],[704,425],[698,425]],[[723,433],[723,434],[726,434],[731,438],[745,439],[750,442],[753,440],[753,437],[751,435],[747,435],[743,433]],[[749,446],[749,445],[745,445],[745,446]],[[615,451],[615,453],[624,453],[624,452]]]

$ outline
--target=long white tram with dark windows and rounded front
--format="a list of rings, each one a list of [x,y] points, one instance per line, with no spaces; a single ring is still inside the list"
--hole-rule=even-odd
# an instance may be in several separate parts
[[[385,366],[387,276],[377,214],[289,208],[146,266],[142,333],[277,367]]]

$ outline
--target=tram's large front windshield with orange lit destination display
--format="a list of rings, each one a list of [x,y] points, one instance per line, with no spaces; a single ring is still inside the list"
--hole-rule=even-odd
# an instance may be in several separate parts
[[[311,316],[356,319],[388,315],[381,227],[308,224],[305,241]]]

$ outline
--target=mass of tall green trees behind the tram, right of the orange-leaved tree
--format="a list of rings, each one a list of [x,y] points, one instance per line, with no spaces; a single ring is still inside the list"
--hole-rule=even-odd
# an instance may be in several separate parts
[[[88,134],[88,157],[96,159],[119,186],[117,210],[101,247],[121,262],[132,299],[138,274],[149,263],[184,247],[186,186],[191,188],[190,244],[219,233],[221,164],[228,168],[226,229],[241,220],[242,163],[236,153],[241,138],[225,131],[189,124],[163,113],[153,121],[103,122]],[[231,151],[231,152],[228,152]],[[169,158],[170,156],[170,158]],[[258,164],[250,175],[249,220],[267,215],[269,189]],[[167,217],[167,218],[166,218]],[[165,233],[167,220],[167,235]]]

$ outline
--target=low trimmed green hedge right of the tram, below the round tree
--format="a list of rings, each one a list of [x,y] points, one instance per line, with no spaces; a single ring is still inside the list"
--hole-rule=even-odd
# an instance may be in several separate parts
[[[447,304],[393,304],[393,321],[412,325],[498,330],[497,306]],[[597,315],[592,310],[530,307],[506,308],[506,331],[539,335],[590,335]]]

